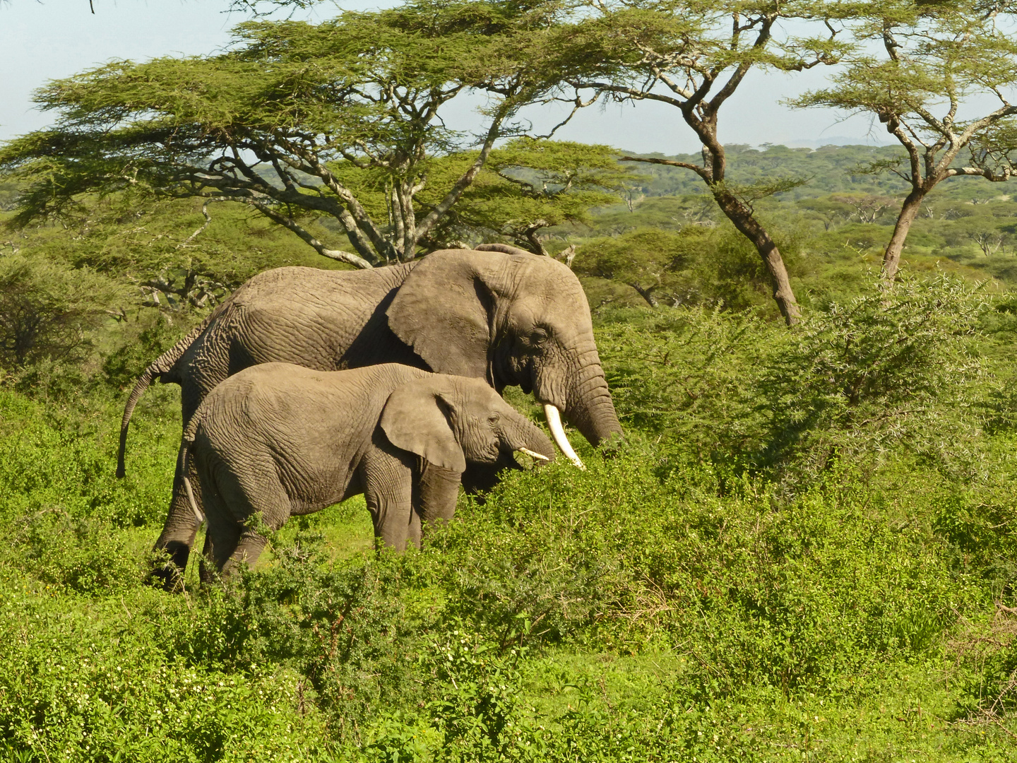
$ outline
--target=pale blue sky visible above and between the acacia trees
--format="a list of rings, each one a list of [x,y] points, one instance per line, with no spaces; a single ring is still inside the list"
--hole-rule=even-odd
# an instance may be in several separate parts
[[[374,2],[342,3],[345,8],[376,7]],[[229,44],[230,28],[243,19],[223,11],[228,0],[0,0],[0,140],[46,126],[51,115],[33,108],[32,92],[48,79],[69,76],[115,59],[143,60],[165,55],[211,53]],[[326,16],[335,6],[320,4]],[[760,75],[747,79],[721,112],[725,142],[819,145],[824,142],[886,142],[886,133],[868,117],[839,121],[832,111],[792,111],[778,101],[816,87],[823,72]],[[478,124],[474,105],[459,105],[451,126]],[[560,119],[548,107],[526,112],[537,131]],[[594,107],[581,112],[558,137],[614,145],[633,152],[695,152],[697,141],[666,106]]]

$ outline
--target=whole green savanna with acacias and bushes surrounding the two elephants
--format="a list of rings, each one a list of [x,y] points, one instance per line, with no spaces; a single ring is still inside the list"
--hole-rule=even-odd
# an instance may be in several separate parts
[[[236,5],[0,145],[0,757],[1017,757],[1017,4]],[[887,144],[720,142],[754,70],[807,69],[794,106]],[[702,152],[524,113],[646,101]],[[481,244],[579,278],[623,442],[405,554],[355,497],[154,585],[178,387],[115,476],[145,367],[255,274]]]

